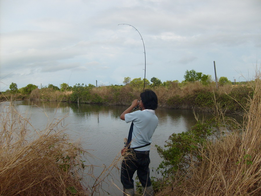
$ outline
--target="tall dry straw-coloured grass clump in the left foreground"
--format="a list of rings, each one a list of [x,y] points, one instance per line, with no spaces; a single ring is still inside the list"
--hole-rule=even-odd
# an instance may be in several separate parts
[[[88,195],[81,184],[88,152],[63,132],[65,117],[40,131],[12,101],[0,108],[0,195]]]

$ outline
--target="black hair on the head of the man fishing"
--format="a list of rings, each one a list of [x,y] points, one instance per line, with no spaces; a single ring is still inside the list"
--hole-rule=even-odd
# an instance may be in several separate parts
[[[143,93],[140,93],[140,98],[145,109],[157,109],[158,98],[152,90],[146,89]]]

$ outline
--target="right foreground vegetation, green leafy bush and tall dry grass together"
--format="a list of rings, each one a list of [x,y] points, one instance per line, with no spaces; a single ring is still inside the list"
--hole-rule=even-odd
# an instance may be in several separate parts
[[[261,75],[237,123],[215,104],[211,120],[198,120],[188,132],[172,134],[157,146],[162,163],[153,178],[161,195],[261,195]]]

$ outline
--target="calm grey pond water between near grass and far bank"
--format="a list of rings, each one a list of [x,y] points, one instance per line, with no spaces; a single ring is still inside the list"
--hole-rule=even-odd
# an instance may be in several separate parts
[[[14,102],[17,111],[30,118],[34,129],[43,130],[54,118],[61,119],[68,115],[61,124],[67,125],[66,132],[73,139],[81,140],[84,149],[92,149],[89,152],[93,154],[93,157],[88,157],[86,160],[90,164],[108,167],[115,157],[119,156],[123,147],[123,138],[128,137],[131,125],[119,118],[127,107],[88,104],[80,104],[78,107],[77,104],[72,103],[60,103],[57,107],[57,102],[36,101],[33,103],[35,105],[28,101]],[[163,146],[171,134],[187,131],[196,123],[191,110],[158,108],[156,115],[159,118],[159,124],[153,135],[150,168],[157,168],[162,161],[157,154],[155,144]],[[208,115],[204,114],[204,116]],[[120,162],[117,165],[120,168]],[[94,175],[99,176],[102,170],[103,167],[94,167]],[[151,176],[160,177],[155,169],[153,171],[151,170]],[[108,193],[122,195],[116,187],[122,188],[119,175],[119,170],[114,168],[97,195],[108,195]],[[93,183],[93,179],[87,179],[87,181],[90,184]]]

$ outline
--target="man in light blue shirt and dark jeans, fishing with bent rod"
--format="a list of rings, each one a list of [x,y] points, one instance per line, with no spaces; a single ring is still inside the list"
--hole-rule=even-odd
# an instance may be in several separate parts
[[[146,89],[140,94],[141,100],[135,99],[131,106],[120,116],[126,123],[132,122],[133,131],[128,153],[124,156],[121,167],[121,182],[124,195],[134,196],[133,175],[137,170],[137,176],[142,184],[144,195],[153,195],[149,171],[149,152],[152,135],[158,125],[155,109],[158,106],[158,98],[155,92]],[[139,105],[141,110],[132,112]],[[131,131],[131,130],[130,130]],[[130,137],[130,136],[129,136]]]

